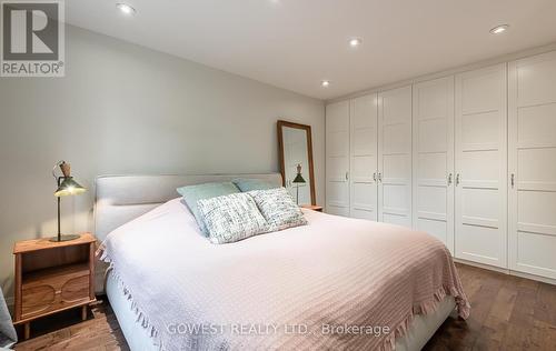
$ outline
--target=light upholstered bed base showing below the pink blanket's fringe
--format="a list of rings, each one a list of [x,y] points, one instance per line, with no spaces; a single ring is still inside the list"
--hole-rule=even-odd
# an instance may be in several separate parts
[[[137,322],[137,314],[132,309],[132,301],[123,293],[120,282],[113,274],[108,273],[106,281],[106,294],[110,305],[118,319],[121,331],[129,348],[132,351],[155,351],[159,348],[155,345],[153,339]],[[420,350],[433,337],[435,331],[448,318],[456,308],[454,298],[447,295],[438,305],[438,309],[429,314],[417,314],[407,334],[396,339],[397,351],[417,351]]]

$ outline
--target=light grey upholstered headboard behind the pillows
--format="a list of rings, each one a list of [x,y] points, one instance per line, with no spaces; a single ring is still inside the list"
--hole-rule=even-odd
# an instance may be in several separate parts
[[[147,213],[179,194],[176,188],[207,182],[255,178],[281,185],[280,173],[208,176],[101,176],[97,178],[95,234],[103,241],[121,224]]]

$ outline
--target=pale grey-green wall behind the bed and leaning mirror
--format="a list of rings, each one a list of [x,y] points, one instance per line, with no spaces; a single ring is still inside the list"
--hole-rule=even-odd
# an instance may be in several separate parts
[[[56,232],[51,168],[89,188],[64,198],[62,230],[92,229],[95,178],[115,173],[276,172],[276,121],[310,124],[324,203],[324,102],[75,27],[66,78],[0,78],[0,284],[12,244]],[[271,63],[269,63],[271,64]]]

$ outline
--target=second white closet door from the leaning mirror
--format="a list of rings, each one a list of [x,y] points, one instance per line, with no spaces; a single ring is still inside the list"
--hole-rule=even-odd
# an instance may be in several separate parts
[[[377,96],[351,100],[350,217],[377,220]]]

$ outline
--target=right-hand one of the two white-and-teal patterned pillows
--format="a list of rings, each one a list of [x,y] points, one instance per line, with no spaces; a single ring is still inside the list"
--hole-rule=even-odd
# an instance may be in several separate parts
[[[248,194],[252,197],[267,220],[268,231],[307,224],[304,213],[286,188],[254,190]]]

